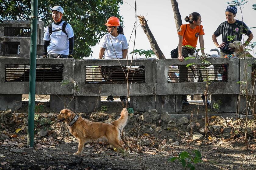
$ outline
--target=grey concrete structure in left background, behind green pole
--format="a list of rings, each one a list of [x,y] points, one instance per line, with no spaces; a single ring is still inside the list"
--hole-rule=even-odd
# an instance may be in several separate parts
[[[30,21],[3,21],[0,23],[0,56],[4,56],[3,42],[20,42],[20,55],[18,57],[30,57],[30,36],[4,36],[4,27],[28,27]],[[37,55],[42,55],[44,45],[44,22],[37,21]],[[5,55],[6,56],[6,55]]]

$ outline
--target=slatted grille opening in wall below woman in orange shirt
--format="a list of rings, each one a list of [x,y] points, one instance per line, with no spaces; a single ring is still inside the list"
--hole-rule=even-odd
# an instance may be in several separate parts
[[[221,73],[219,73],[221,72]],[[228,64],[171,65],[168,83],[175,82],[227,82]]]

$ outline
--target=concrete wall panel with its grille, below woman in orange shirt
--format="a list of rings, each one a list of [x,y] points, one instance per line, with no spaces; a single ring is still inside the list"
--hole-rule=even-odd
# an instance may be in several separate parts
[[[200,94],[206,88],[207,77],[208,89],[212,94],[238,94],[239,92],[238,58],[207,59],[206,61],[189,59],[183,62],[178,59],[162,59],[157,60],[156,63],[156,94],[158,95]],[[179,67],[186,68],[188,65],[192,69],[189,67],[187,76],[180,81]]]

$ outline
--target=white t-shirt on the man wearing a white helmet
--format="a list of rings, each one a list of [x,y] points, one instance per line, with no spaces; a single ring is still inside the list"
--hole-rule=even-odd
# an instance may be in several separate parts
[[[52,23],[52,31],[57,29],[62,29],[64,21],[62,21],[59,25],[56,25]],[[49,38],[49,29],[48,26],[46,28],[46,31],[44,33],[44,40],[49,41],[50,45],[47,47],[47,53],[48,54],[69,54],[69,38],[72,38],[74,36],[73,29],[70,24],[66,25],[66,33],[68,34],[68,37],[65,33],[63,33],[62,30],[52,32],[51,39]]]

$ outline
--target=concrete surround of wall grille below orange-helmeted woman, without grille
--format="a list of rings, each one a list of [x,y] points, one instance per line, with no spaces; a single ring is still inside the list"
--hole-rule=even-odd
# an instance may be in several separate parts
[[[127,85],[123,84],[106,84],[106,83],[86,83],[85,67],[86,66],[119,66],[127,65],[126,59],[121,60],[75,60],[74,63],[74,82],[79,88],[78,96],[98,96],[110,95],[123,96],[127,95]],[[128,60],[130,63],[131,60]],[[130,64],[129,64],[130,65]],[[145,83],[133,83],[130,90],[130,95],[155,95],[155,59],[137,59],[133,60],[132,65],[145,66]],[[131,84],[129,84],[130,86]]]

